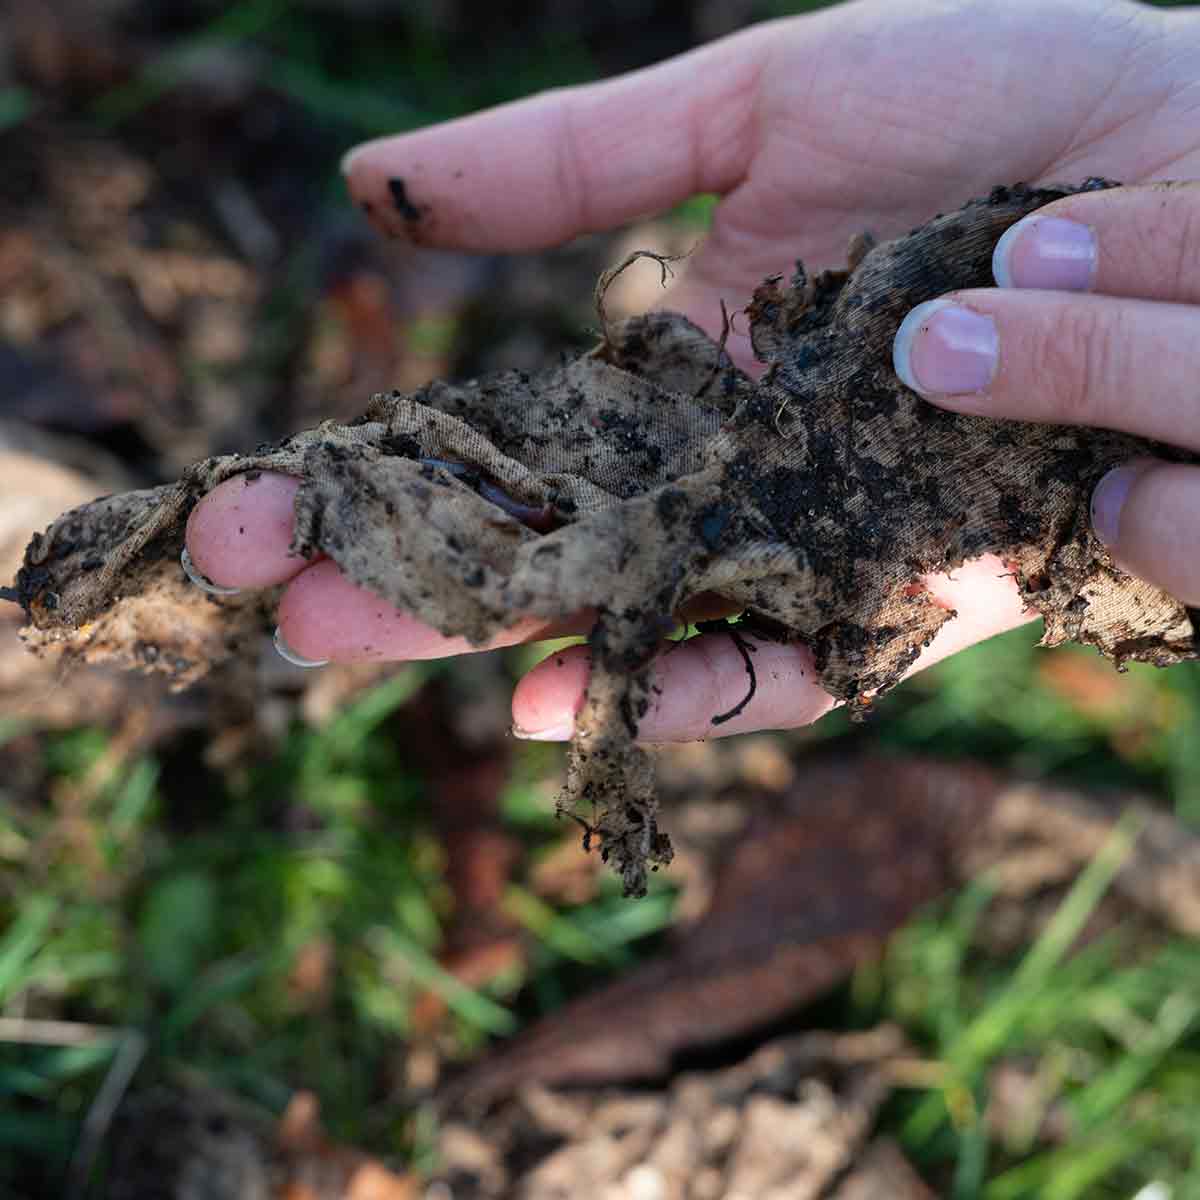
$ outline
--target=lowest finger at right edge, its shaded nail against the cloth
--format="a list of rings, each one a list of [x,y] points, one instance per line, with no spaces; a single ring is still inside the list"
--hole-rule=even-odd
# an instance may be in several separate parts
[[[1109,472],[1092,524],[1126,570],[1200,606],[1200,467],[1147,460]]]

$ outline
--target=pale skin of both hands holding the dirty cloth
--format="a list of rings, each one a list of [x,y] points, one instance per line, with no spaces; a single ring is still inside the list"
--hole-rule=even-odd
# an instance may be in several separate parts
[[[894,236],[998,182],[1121,179],[1130,186],[1040,210],[1070,224],[1022,227],[1000,264],[1006,286],[946,298],[965,310],[966,334],[917,322],[898,365],[944,407],[1200,451],[1200,182],[1152,186],[1200,180],[1198,80],[1200,8],[858,0],[634,74],[383,138],[354,150],[344,170],[385,233],[409,229],[388,187],[401,178],[427,211],[421,240],[470,251],[538,250],[715,192],[712,232],[666,301],[713,332],[721,299],[744,304],[797,257],[840,264],[860,230]],[[744,341],[731,348],[749,364]],[[966,391],[926,385],[940,361],[949,378],[971,380]],[[980,370],[977,385],[971,372]],[[1097,497],[1097,532],[1127,569],[1200,605],[1200,468],[1134,468]],[[476,649],[389,608],[334,563],[289,556],[296,486],[264,475],[254,487],[233,479],[215,488],[188,522],[199,570],[228,587],[286,583],[281,631],[306,658]],[[917,670],[1031,619],[995,559],[929,586],[959,616]],[[514,613],[492,644],[588,624],[584,613],[547,630]],[[811,683],[804,647],[764,643],[755,666],[754,702],[714,728],[712,715],[745,692],[731,638],[701,636],[664,655],[642,738],[788,728],[833,707]],[[587,671],[583,647],[530,671],[512,697],[516,732],[569,737]]]

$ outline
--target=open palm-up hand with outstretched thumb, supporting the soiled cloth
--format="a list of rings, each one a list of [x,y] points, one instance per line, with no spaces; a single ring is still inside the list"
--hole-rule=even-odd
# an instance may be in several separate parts
[[[863,0],[755,26],[607,83],[370,143],[349,156],[346,172],[352,193],[386,232],[480,251],[548,246],[696,192],[718,192],[712,233],[668,299],[715,331],[721,299],[737,305],[794,257],[836,265],[851,234],[894,235],[996,182],[1200,174],[1200,127],[1190,110],[1198,25],[1194,13],[1126,0]],[[1156,215],[1156,233],[1162,220]],[[1193,222],[1193,235],[1195,228]],[[1187,233],[1184,218],[1177,247]],[[1127,253],[1153,240],[1145,226],[1114,236],[1123,238]],[[1105,239],[1097,283],[1109,270],[1108,253]],[[731,350],[745,361],[744,342]],[[1153,353],[1139,353],[1138,361]],[[917,358],[919,365],[919,352]],[[1170,361],[1178,370],[1178,359]],[[1067,348],[1040,362],[1074,380],[1052,395],[1088,395],[1086,366]],[[1006,359],[997,384],[1015,370]],[[1128,380],[1134,367],[1123,370]],[[1153,378],[1142,378],[1142,394],[1156,394]],[[1178,391],[1176,384],[1172,395]],[[997,403],[1013,402],[1008,391],[995,395]],[[1076,401],[1067,419],[1082,419],[1081,409]],[[354,588],[332,563],[288,557],[296,486],[264,475],[253,487],[235,479],[216,488],[188,526],[197,566],[222,584],[287,582],[280,626],[307,658],[415,659],[469,648]],[[1141,488],[1139,481],[1130,496]],[[1122,518],[1122,553],[1128,521]],[[996,560],[980,559],[954,580],[929,581],[960,616],[918,666],[1028,618],[1001,575]],[[586,616],[557,630],[517,620],[497,644],[588,624]],[[804,647],[763,644],[755,666],[754,702],[713,728],[712,715],[734,707],[745,690],[737,648],[727,637],[701,636],[662,656],[653,668],[661,697],[641,736],[683,740],[796,726],[832,707],[811,683]],[[515,692],[516,727],[568,737],[586,679],[582,647],[536,667]]]

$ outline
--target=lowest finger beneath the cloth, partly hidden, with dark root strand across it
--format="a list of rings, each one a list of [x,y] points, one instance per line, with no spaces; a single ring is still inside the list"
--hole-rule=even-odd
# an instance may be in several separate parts
[[[926,581],[934,598],[960,616],[947,622],[913,670],[923,670],[966,646],[1031,620],[1012,572],[991,556],[967,563],[950,576]],[[650,667],[654,702],[638,722],[638,740],[691,742],[754,730],[809,725],[834,707],[817,683],[812,655],[804,646],[745,638],[755,694],[745,708],[719,725],[713,718],[734,709],[748,695],[750,678],[733,638],[703,634],[661,654]],[[545,659],[512,695],[518,737],[560,742],[571,736],[588,680],[588,650],[575,646]]]

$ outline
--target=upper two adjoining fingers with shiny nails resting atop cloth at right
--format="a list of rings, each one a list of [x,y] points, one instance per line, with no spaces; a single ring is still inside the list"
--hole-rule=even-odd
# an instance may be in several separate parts
[[[1200,184],[1050,204],[1001,238],[994,272],[1000,289],[905,318],[894,361],[908,386],[958,412],[1200,449]]]

